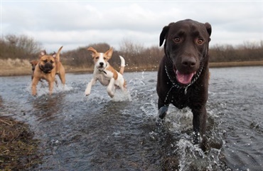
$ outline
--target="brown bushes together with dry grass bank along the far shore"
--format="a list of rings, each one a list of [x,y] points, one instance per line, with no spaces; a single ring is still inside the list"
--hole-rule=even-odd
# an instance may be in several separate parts
[[[61,53],[62,58],[60,59],[67,73],[92,72],[93,61],[90,52],[87,51],[89,46],[100,52],[107,51],[110,47],[107,43],[94,43],[72,51],[64,51]],[[0,76],[14,76],[31,73],[31,66],[26,64],[26,61],[38,58],[41,44],[27,36],[7,35],[0,39],[0,48]],[[210,47],[209,53],[211,67],[262,65],[261,62],[257,61],[263,61],[263,41],[244,43],[240,46],[215,45]],[[125,71],[156,71],[159,61],[163,57],[163,47],[145,48],[142,45],[125,40],[121,43],[119,51],[114,49],[113,56],[110,59],[114,68],[120,66],[119,55],[125,58],[127,64]],[[11,63],[16,63],[16,65]]]

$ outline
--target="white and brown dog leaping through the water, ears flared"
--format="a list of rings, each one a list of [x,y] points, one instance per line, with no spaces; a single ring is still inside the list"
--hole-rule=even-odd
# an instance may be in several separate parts
[[[88,51],[92,51],[92,58],[95,63],[93,78],[90,83],[87,84],[85,90],[85,95],[90,95],[90,90],[96,81],[100,81],[103,86],[107,86],[107,93],[111,98],[114,97],[115,88],[120,88],[122,91],[126,90],[126,81],[122,76],[124,73],[125,60],[122,56],[119,56],[121,59],[121,68],[119,72],[114,70],[112,66],[109,65],[108,60],[112,58],[113,49],[105,53],[98,53],[94,48],[87,48]]]

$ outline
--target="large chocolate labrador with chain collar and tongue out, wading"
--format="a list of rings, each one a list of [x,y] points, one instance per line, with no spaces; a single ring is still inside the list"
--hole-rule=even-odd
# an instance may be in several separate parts
[[[205,134],[208,100],[208,44],[212,28],[208,23],[186,19],[164,26],[160,46],[164,53],[158,71],[159,118],[163,119],[171,103],[187,106],[193,113],[194,142]]]

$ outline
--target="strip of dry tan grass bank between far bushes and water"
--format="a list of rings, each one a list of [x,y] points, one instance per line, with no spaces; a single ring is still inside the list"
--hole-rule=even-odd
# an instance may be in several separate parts
[[[244,62],[226,62],[226,63],[210,63],[210,68],[224,68],[236,66],[263,66],[263,61],[244,61]],[[66,73],[92,73],[93,68],[73,68],[72,66],[64,66]],[[134,71],[157,71],[155,67],[136,67],[125,68],[126,72]],[[25,76],[31,75],[31,64],[28,60],[2,60],[0,59],[0,76]]]

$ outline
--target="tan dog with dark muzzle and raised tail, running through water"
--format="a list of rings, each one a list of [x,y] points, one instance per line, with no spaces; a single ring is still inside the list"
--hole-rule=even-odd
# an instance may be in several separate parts
[[[36,95],[36,86],[41,79],[48,81],[49,94],[51,95],[56,74],[58,74],[61,83],[65,86],[65,68],[60,63],[60,51],[62,48],[63,46],[58,49],[58,53],[53,53],[52,56],[47,55],[45,51],[41,51],[40,60],[33,72],[32,95]]]

